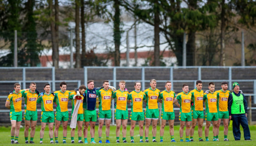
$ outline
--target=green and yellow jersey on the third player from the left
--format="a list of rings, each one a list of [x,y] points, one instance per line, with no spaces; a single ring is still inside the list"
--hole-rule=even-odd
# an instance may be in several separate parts
[[[53,100],[54,95],[52,93],[50,93],[49,95],[44,93],[43,96],[38,97],[37,103],[41,103],[42,111],[53,111]]]

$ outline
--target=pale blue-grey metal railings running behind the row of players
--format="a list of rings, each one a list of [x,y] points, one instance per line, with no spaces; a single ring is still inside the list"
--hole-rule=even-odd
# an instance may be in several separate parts
[[[19,68],[0,68],[1,69],[22,69],[22,80],[0,80],[0,84],[1,83],[15,83],[15,82],[19,82],[23,87],[26,87],[26,83],[28,82],[50,82],[52,84],[52,90],[55,91],[55,83],[56,82],[61,82],[61,80],[56,80],[55,78],[55,68],[31,68],[31,67],[19,67]],[[51,69],[51,74],[52,74],[52,80],[26,80],[26,69]],[[83,75],[84,75],[84,83],[87,82],[87,80],[89,80],[89,75],[88,75],[88,70],[89,69],[110,69],[111,72],[113,72],[113,75],[111,75],[111,79],[109,80],[110,82],[112,82],[112,86],[117,87],[117,82],[119,82],[120,80],[117,79],[117,69],[139,69],[140,73],[141,73],[141,77],[139,80],[125,80],[126,82],[135,82],[135,81],[140,81],[142,83],[141,89],[144,91],[145,90],[145,83],[148,82],[147,80],[145,80],[145,70],[147,69],[168,69],[169,70],[169,75],[167,75],[169,78],[166,78],[165,80],[157,80],[157,82],[166,82],[166,80],[170,80],[172,82],[172,90],[175,86],[175,84],[181,83],[181,82],[189,82],[189,83],[193,83],[194,84],[194,88],[196,81],[197,80],[202,80],[202,70],[203,69],[228,69],[228,79],[226,78],[219,78],[218,80],[202,80],[202,82],[222,82],[223,80],[227,81],[229,83],[229,85],[232,85],[232,82],[252,82],[253,83],[253,93],[247,94],[245,93],[245,96],[251,96],[254,104],[256,104],[256,78],[250,78],[250,79],[241,79],[241,80],[237,80],[237,79],[233,79],[232,78],[232,69],[256,69],[255,66],[253,67],[220,67],[220,66],[193,66],[193,67],[84,67],[83,68]],[[197,70],[197,75],[198,75],[198,79],[195,80],[175,80],[174,79],[174,69],[196,69]],[[66,82],[76,82],[77,86],[79,87],[81,85],[81,80],[65,80]],[[232,90],[232,86],[229,86],[229,90]],[[0,98],[6,98],[6,96],[0,96]],[[114,124],[114,101],[112,100],[112,124]],[[252,107],[251,109],[255,110],[255,107]],[[69,109],[71,110],[71,109]],[[130,109],[128,109],[130,111]],[[174,108],[174,110],[179,110],[179,108]],[[41,110],[39,109],[38,112],[40,112]],[[8,112],[8,110],[0,110],[0,112]]]

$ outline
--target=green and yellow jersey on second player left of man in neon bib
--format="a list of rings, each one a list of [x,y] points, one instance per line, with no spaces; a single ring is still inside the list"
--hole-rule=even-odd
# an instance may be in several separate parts
[[[206,113],[217,113],[217,99],[219,98],[219,93],[208,93],[204,95],[203,100],[205,101],[205,112]]]

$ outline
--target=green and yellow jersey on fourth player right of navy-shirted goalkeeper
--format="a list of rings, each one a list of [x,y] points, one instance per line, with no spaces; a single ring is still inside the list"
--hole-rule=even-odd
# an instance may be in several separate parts
[[[146,94],[146,100],[147,100],[146,108],[158,109],[157,102],[158,102],[158,96],[160,95],[160,90],[159,89],[152,90],[150,87],[146,89],[144,93]]]

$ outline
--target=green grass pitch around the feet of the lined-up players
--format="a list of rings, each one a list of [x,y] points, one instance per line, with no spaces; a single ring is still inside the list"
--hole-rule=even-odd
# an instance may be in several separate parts
[[[68,126],[69,127],[69,126]],[[35,137],[34,137],[34,146],[37,146],[37,145],[41,145],[39,144],[39,131],[40,131],[40,128],[41,126],[37,126],[36,128],[36,132],[35,132]],[[179,136],[179,128],[180,126],[174,126],[174,139],[176,141],[180,141],[180,136]],[[195,142],[189,142],[189,145],[191,146],[198,146],[199,144],[207,144],[207,146],[216,146],[216,145],[219,145],[219,146],[223,146],[223,145],[247,145],[247,146],[253,146],[253,145],[256,145],[255,141],[256,141],[256,125],[254,126],[250,126],[250,133],[251,133],[251,139],[252,141],[243,141],[243,130],[241,128],[241,141],[234,141],[234,136],[233,136],[233,133],[232,133],[232,128],[229,128],[229,132],[228,132],[228,139],[230,140],[229,142],[224,142],[223,139],[224,139],[224,135],[223,135],[223,126],[220,127],[220,134],[219,134],[219,140],[218,142],[213,142],[212,139],[213,139],[213,133],[212,133],[212,127],[210,127],[210,132],[209,132],[209,139],[210,141],[209,142],[198,142],[198,133],[197,133],[197,127],[195,128],[195,133],[194,133],[194,140]],[[158,141],[157,143],[153,143],[152,142],[152,133],[151,133],[151,130],[152,130],[152,126],[150,126],[150,129],[149,129],[149,136],[148,136],[148,139],[149,139],[149,143],[139,143],[139,127],[136,125],[135,127],[135,131],[134,131],[134,141],[135,143],[132,144],[132,145],[136,145],[138,146],[160,146],[160,145],[179,145],[179,146],[187,146],[187,142],[170,142],[171,141],[171,137],[170,137],[170,134],[169,134],[169,126],[166,126],[165,127],[165,133],[164,133],[164,137],[163,137],[163,140],[164,142],[160,143],[160,126],[157,127],[157,134],[156,134],[156,141]],[[204,128],[203,128],[204,130]],[[10,144],[10,140],[11,140],[11,128],[10,127],[0,127],[0,145],[9,145]],[[102,133],[102,142],[105,142],[106,140],[106,135],[105,135],[105,126],[103,127],[103,133]],[[62,143],[62,128],[59,128],[59,142],[60,144]],[[185,140],[186,138],[186,135],[185,135],[185,129],[184,129],[184,136],[183,136],[183,139]],[[30,139],[30,137],[29,137]],[[204,131],[203,131],[203,139],[205,140],[205,137],[204,137]],[[121,134],[120,134],[120,140],[122,141],[122,129],[121,129]],[[130,145],[130,126],[127,127],[127,134],[126,134],[126,140],[128,141],[127,144],[123,144],[122,142],[120,144],[116,144],[116,136],[115,136],[115,126],[111,126],[110,128],[110,142],[111,142],[111,146],[128,146]],[[83,136],[82,136],[82,141],[83,141]],[[91,141],[91,136],[88,132],[88,142]],[[95,141],[98,142],[98,126],[95,127]],[[143,141],[145,141],[145,136],[143,135]],[[45,136],[44,136],[44,139],[43,139],[43,142],[44,142],[44,145],[46,144],[49,144],[50,143],[50,138],[49,138],[49,135],[48,135],[48,128],[46,126],[46,130],[45,130]],[[68,128],[68,132],[67,132],[67,143],[68,144],[65,144],[65,145],[81,145],[81,144],[77,144],[78,142],[78,136],[77,136],[77,131],[76,131],[76,135],[75,135],[75,142],[76,144],[71,144],[71,138],[70,138],[70,128]],[[20,145],[26,145],[25,144],[25,139],[24,139],[24,128],[20,128],[20,134],[19,134],[19,143]],[[98,145],[98,144],[97,144]],[[103,145],[110,145],[110,144],[103,144]]]

